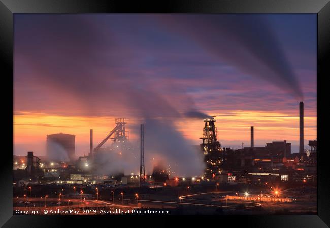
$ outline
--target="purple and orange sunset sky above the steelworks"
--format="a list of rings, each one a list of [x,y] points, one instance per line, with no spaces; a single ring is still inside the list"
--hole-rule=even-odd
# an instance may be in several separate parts
[[[127,117],[134,143],[139,124],[157,119],[197,145],[204,122],[189,111],[217,116],[222,146],[250,146],[254,126],[255,145],[287,140],[296,152],[302,100],[307,146],[317,138],[316,15],[253,17],[267,31],[251,18],[15,14],[14,154],[44,155],[59,132],[87,154],[89,129],[96,145],[115,117]]]

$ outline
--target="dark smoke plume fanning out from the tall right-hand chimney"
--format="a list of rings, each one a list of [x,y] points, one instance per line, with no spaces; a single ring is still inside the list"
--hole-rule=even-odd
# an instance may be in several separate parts
[[[229,64],[274,83],[298,100],[303,99],[299,81],[265,16],[222,14],[157,18],[168,30],[195,40]]]

